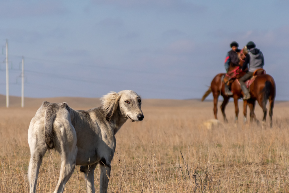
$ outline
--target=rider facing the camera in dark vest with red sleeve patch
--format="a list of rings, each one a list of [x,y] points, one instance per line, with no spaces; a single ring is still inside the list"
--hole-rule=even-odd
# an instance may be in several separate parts
[[[238,57],[238,52],[240,52],[241,50],[238,49],[239,44],[236,41],[233,41],[231,43],[231,50],[227,53],[226,59],[225,59],[225,69],[226,71],[228,71],[229,69],[229,65],[230,62],[233,63],[234,65],[239,65],[240,59]],[[225,84],[225,93],[226,95],[233,95],[233,93],[229,90],[230,89],[230,85]]]

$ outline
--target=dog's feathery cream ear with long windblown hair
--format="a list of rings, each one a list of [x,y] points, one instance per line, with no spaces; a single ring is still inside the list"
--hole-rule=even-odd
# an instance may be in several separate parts
[[[118,107],[120,98],[121,96],[116,92],[109,92],[101,98],[102,108],[106,114],[106,120],[110,121],[110,118]]]

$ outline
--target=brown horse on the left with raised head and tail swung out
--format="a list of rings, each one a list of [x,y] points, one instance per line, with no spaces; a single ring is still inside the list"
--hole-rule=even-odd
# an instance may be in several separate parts
[[[217,113],[218,113],[218,99],[219,96],[222,95],[222,97],[224,98],[223,103],[221,104],[221,111],[223,114],[223,118],[224,118],[224,122],[228,123],[227,117],[226,117],[226,113],[225,113],[225,108],[229,102],[229,99],[231,97],[233,97],[234,95],[226,95],[225,94],[225,82],[230,82],[231,84],[234,83],[234,79],[235,78],[240,78],[240,66],[243,65],[244,63],[244,59],[245,59],[245,55],[248,53],[248,49],[245,46],[241,52],[238,52],[238,57],[240,59],[239,62],[239,66],[235,66],[233,63],[230,63],[229,69],[228,69],[228,73],[219,73],[217,74],[214,79],[211,82],[211,86],[209,87],[209,89],[205,92],[205,94],[202,97],[201,101],[204,101],[205,98],[212,92],[213,93],[213,97],[214,97],[214,115],[215,115],[215,119],[218,119],[217,117]],[[233,82],[233,83],[232,83]],[[233,93],[234,94],[234,93]],[[235,96],[236,97],[236,96]],[[235,102],[235,98],[234,98],[234,102]],[[235,102],[235,110],[236,110],[236,118],[235,121],[238,121],[238,115],[239,115],[239,106],[238,106],[238,98],[236,99]]]

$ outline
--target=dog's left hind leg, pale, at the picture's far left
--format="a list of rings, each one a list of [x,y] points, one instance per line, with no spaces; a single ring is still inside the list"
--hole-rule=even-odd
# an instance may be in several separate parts
[[[28,167],[28,181],[30,193],[35,193],[39,168],[42,163],[42,158],[47,151],[47,145],[45,143],[45,139],[41,140],[41,137],[38,136],[37,133],[33,133],[32,130],[36,129],[30,126],[28,132],[28,143],[31,157]]]

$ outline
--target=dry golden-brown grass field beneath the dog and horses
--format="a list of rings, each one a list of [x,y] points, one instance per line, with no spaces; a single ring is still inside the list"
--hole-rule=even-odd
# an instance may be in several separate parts
[[[2,97],[3,98],[3,97]],[[56,98],[75,109],[89,109],[97,99]],[[1,105],[3,100],[1,100]],[[0,192],[29,192],[27,143],[29,122],[43,99],[20,100],[0,107]],[[90,105],[91,104],[91,105]],[[197,100],[143,100],[142,122],[127,122],[116,134],[116,152],[108,192],[289,192],[289,103],[275,104],[273,128],[255,123],[234,124],[229,103],[229,124],[208,129],[212,102]],[[220,104],[219,104],[220,105]],[[242,102],[240,101],[240,111]],[[219,110],[220,111],[220,110]],[[262,111],[256,107],[259,120]],[[223,122],[221,113],[219,120]],[[267,121],[268,123],[268,121]],[[38,177],[37,192],[53,192],[60,156],[47,152]],[[99,188],[99,169],[95,188]],[[65,192],[86,192],[79,166]]]

